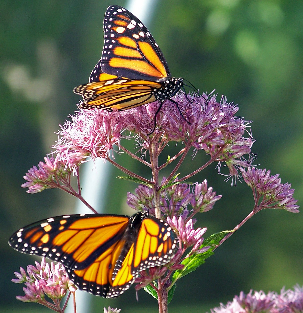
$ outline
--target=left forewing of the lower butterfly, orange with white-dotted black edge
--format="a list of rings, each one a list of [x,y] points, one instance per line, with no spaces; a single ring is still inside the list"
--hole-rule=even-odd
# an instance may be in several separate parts
[[[63,215],[14,233],[9,244],[27,254],[45,256],[69,268],[83,269],[119,241],[129,217],[106,214]]]

